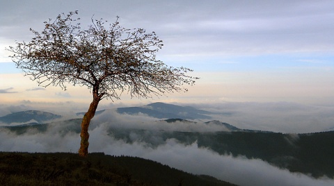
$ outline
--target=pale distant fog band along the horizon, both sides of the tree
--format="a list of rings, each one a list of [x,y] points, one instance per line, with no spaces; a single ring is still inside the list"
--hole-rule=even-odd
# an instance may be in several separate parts
[[[98,110],[127,106],[142,106],[146,103],[127,105],[124,103],[101,104]],[[86,112],[89,104],[72,102],[35,103],[22,101],[19,105],[1,105],[0,117],[25,110],[42,110],[62,115],[63,119],[75,118],[76,112]],[[273,102],[222,102],[216,104],[180,104],[214,112],[216,119],[241,129],[269,130],[277,133],[316,133],[334,128],[334,106],[303,105],[300,103]],[[123,116],[122,116],[123,117]],[[143,118],[141,118],[143,119]],[[136,121],[141,121],[138,119]],[[154,119],[148,118],[148,121]],[[155,119],[157,120],[157,119]],[[154,121],[155,121],[154,120]],[[205,121],[209,121],[207,119]],[[144,120],[146,121],[146,120]]]

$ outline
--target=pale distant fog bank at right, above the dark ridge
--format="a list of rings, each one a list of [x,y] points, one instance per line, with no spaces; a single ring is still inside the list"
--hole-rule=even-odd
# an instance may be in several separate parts
[[[214,119],[242,129],[268,130],[277,133],[317,133],[334,129],[334,106],[300,103],[225,102],[187,104],[216,112]],[[219,113],[230,113],[223,115]]]

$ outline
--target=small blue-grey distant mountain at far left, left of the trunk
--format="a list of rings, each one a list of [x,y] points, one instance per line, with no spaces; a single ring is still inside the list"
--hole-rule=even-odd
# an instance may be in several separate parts
[[[0,117],[0,123],[11,124],[11,123],[26,123],[29,121],[36,121],[43,123],[52,119],[59,119],[60,115],[54,115],[50,112],[42,112],[39,110],[27,110],[22,112],[15,112],[10,115]]]

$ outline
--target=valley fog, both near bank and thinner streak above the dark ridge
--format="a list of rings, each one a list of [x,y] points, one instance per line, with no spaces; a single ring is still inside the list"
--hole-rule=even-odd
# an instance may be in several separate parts
[[[238,107],[234,108],[234,112],[237,110]],[[228,116],[228,118],[231,119],[233,115]],[[240,114],[237,116],[239,116],[240,121]],[[158,146],[151,146],[146,142],[136,140],[136,136],[132,136],[134,142],[126,143],[122,139],[116,140],[113,135],[108,133],[111,128],[138,128],[157,133],[159,130],[199,132],[225,130],[216,124],[203,126],[198,123],[194,126],[193,124],[181,123],[168,124],[164,121],[155,122],[157,120],[159,119],[145,115],[120,115],[115,110],[106,110],[101,115],[95,116],[91,122],[88,151],[104,152],[109,155],[131,155],[155,160],[193,174],[207,174],[238,185],[334,185],[334,180],[328,178],[316,180],[304,174],[292,174],[262,160],[219,155],[209,149],[199,148],[196,142],[186,145],[180,144],[175,139],[169,139],[165,142],[159,142]],[[16,135],[1,128],[0,151],[77,153],[80,137],[78,133],[68,132],[69,126],[68,122],[58,122],[49,124],[44,133],[29,130],[24,135]],[[152,140],[157,139],[154,139],[153,136]]]

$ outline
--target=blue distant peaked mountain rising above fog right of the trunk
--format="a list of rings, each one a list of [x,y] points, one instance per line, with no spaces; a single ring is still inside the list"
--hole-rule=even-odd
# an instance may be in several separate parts
[[[117,112],[120,114],[138,115],[143,113],[150,117],[159,119],[164,118],[180,118],[180,119],[211,119],[212,112],[205,110],[198,110],[189,106],[183,107],[179,105],[167,103],[151,103],[141,107],[127,107],[118,108]]]

